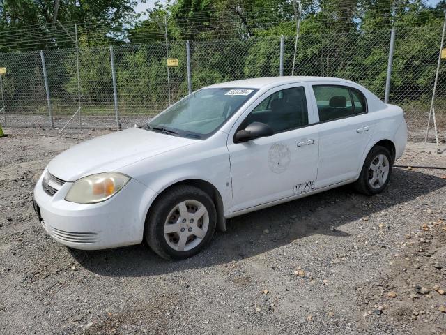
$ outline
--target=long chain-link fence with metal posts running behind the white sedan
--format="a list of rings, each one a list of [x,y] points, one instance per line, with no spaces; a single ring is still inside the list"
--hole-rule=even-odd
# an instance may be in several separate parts
[[[406,111],[412,140],[424,139],[441,30],[420,27],[396,31],[389,103]],[[7,70],[1,78],[3,126],[62,128],[69,120],[70,128],[142,124],[187,95],[189,89],[279,75],[281,57],[284,75],[291,75],[295,36],[285,36],[283,42],[281,55],[281,36],[191,41],[191,87],[185,42],[169,43],[169,57],[178,59],[178,66],[169,70],[164,43],[79,47],[78,54],[75,49],[0,54],[0,67]],[[301,34],[294,74],[346,78],[384,99],[389,50],[388,30]],[[434,105],[440,140],[445,139],[446,129],[445,70],[442,63]]]

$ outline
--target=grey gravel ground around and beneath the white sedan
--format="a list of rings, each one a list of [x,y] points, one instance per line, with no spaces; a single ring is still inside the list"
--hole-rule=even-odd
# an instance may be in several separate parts
[[[0,334],[446,334],[446,170],[394,168],[381,195],[345,186],[233,218],[167,262],[146,246],[70,250],[38,223],[45,165],[100,132],[6,132]],[[434,152],[408,144],[397,163],[446,166]]]

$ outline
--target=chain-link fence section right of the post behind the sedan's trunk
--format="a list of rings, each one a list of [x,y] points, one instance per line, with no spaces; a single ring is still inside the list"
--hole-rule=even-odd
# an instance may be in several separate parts
[[[389,102],[406,112],[410,136],[424,139],[436,75],[442,27],[396,31]],[[441,61],[436,100],[438,135],[446,139],[446,64]],[[434,140],[433,123],[428,140]]]

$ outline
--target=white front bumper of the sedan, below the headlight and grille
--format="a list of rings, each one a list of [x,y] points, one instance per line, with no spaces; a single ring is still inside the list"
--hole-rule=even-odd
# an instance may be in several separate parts
[[[130,179],[104,202],[76,204],[65,200],[72,183],[66,182],[51,196],[43,190],[42,179],[34,188],[35,209],[43,228],[56,241],[84,250],[141,243],[148,204],[156,195],[150,188]]]

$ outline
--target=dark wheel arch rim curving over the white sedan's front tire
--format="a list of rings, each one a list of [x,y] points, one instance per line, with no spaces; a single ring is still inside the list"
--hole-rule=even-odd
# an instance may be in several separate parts
[[[168,192],[171,188],[174,188],[175,186],[178,185],[195,186],[197,188],[200,188],[201,191],[206,192],[215,204],[215,210],[217,211],[217,228],[222,232],[226,231],[226,218],[224,218],[224,205],[223,205],[222,195],[220,194],[220,191],[218,191],[218,189],[213,184],[203,179],[195,179],[195,178],[183,179],[180,181],[176,181],[174,184],[171,184],[163,188],[162,191],[160,191],[160,193],[156,195],[155,199],[153,199],[153,202],[148,207],[146,218],[149,215],[150,210],[153,207],[153,204],[155,204],[157,199],[160,198],[160,195],[164,194],[165,192]]]

